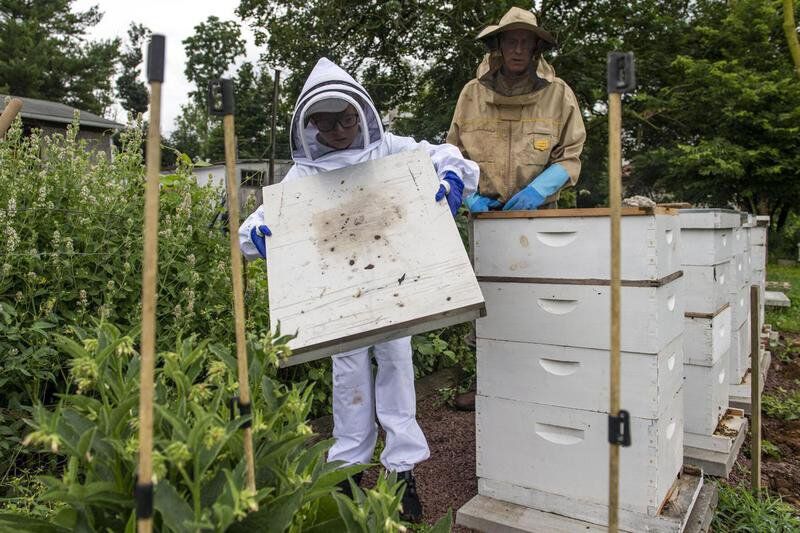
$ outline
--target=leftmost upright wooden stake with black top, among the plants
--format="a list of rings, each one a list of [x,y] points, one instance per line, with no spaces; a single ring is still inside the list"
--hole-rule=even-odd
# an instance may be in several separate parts
[[[142,363],[139,375],[139,475],[136,487],[139,533],[150,533],[153,530],[153,374],[156,344],[158,192],[161,177],[161,82],[164,81],[164,36],[153,35],[148,50],[150,123],[147,131],[147,183],[144,193]]]

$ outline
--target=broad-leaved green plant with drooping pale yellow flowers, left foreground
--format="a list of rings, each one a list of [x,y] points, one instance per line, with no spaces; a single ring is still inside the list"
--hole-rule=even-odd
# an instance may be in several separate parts
[[[48,409],[41,404],[25,443],[60,458],[57,475],[41,476],[46,489],[35,503],[59,502],[52,517],[0,515],[0,525],[49,523],[54,530],[132,531],[132,491],[138,449],[139,355],[136,332],[121,335],[101,322],[92,335],[56,337],[69,361],[67,392]],[[156,526],[169,531],[314,530],[321,524],[367,531],[397,521],[397,483],[379,485],[353,516],[334,500],[337,483],[363,466],[326,463],[330,441],[309,444],[306,424],[312,391],[286,387],[270,372],[288,354],[286,338],[250,339],[257,488],[244,486],[240,425],[228,403],[237,390],[229,350],[194,337],[177,339],[157,355],[154,421]],[[335,505],[334,505],[335,503]],[[258,511],[252,511],[256,506]],[[344,507],[343,507],[344,506]],[[13,509],[12,509],[13,510]],[[360,529],[354,528],[363,526]],[[327,526],[326,526],[327,527]]]

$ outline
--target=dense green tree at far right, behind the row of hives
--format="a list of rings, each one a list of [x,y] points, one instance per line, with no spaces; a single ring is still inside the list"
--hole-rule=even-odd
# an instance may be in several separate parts
[[[694,4],[660,87],[639,95],[634,185],[775,217],[800,200],[800,84],[780,2]]]

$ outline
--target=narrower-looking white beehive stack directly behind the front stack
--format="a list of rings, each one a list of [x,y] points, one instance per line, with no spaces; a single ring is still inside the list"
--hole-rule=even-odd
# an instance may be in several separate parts
[[[730,294],[740,288],[734,259],[740,215],[720,209],[682,209],[680,222],[686,276],[686,441],[703,447],[703,439],[697,437],[713,435],[728,410]]]

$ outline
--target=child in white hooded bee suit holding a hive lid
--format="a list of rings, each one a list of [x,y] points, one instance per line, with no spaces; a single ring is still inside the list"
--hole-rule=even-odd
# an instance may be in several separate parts
[[[455,215],[462,194],[471,194],[478,166],[462,157],[455,146],[416,142],[383,131],[378,111],[364,88],[328,59],[320,59],[303,86],[291,123],[294,166],[284,180],[301,179],[370,159],[408,150],[427,150],[441,185],[431,202],[446,201]],[[248,259],[267,259],[269,228],[263,206],[239,228],[239,242]],[[420,236],[422,237],[422,236]],[[268,260],[268,259],[267,259]],[[422,506],[412,469],[430,456],[416,420],[411,338],[372,346],[378,372],[373,383],[370,346],[333,356],[333,436],[329,461],[348,465],[371,461],[378,422],[386,431],[381,463],[406,483],[402,516],[422,518]],[[358,483],[360,476],[354,476]],[[342,490],[350,493],[350,485]]]

